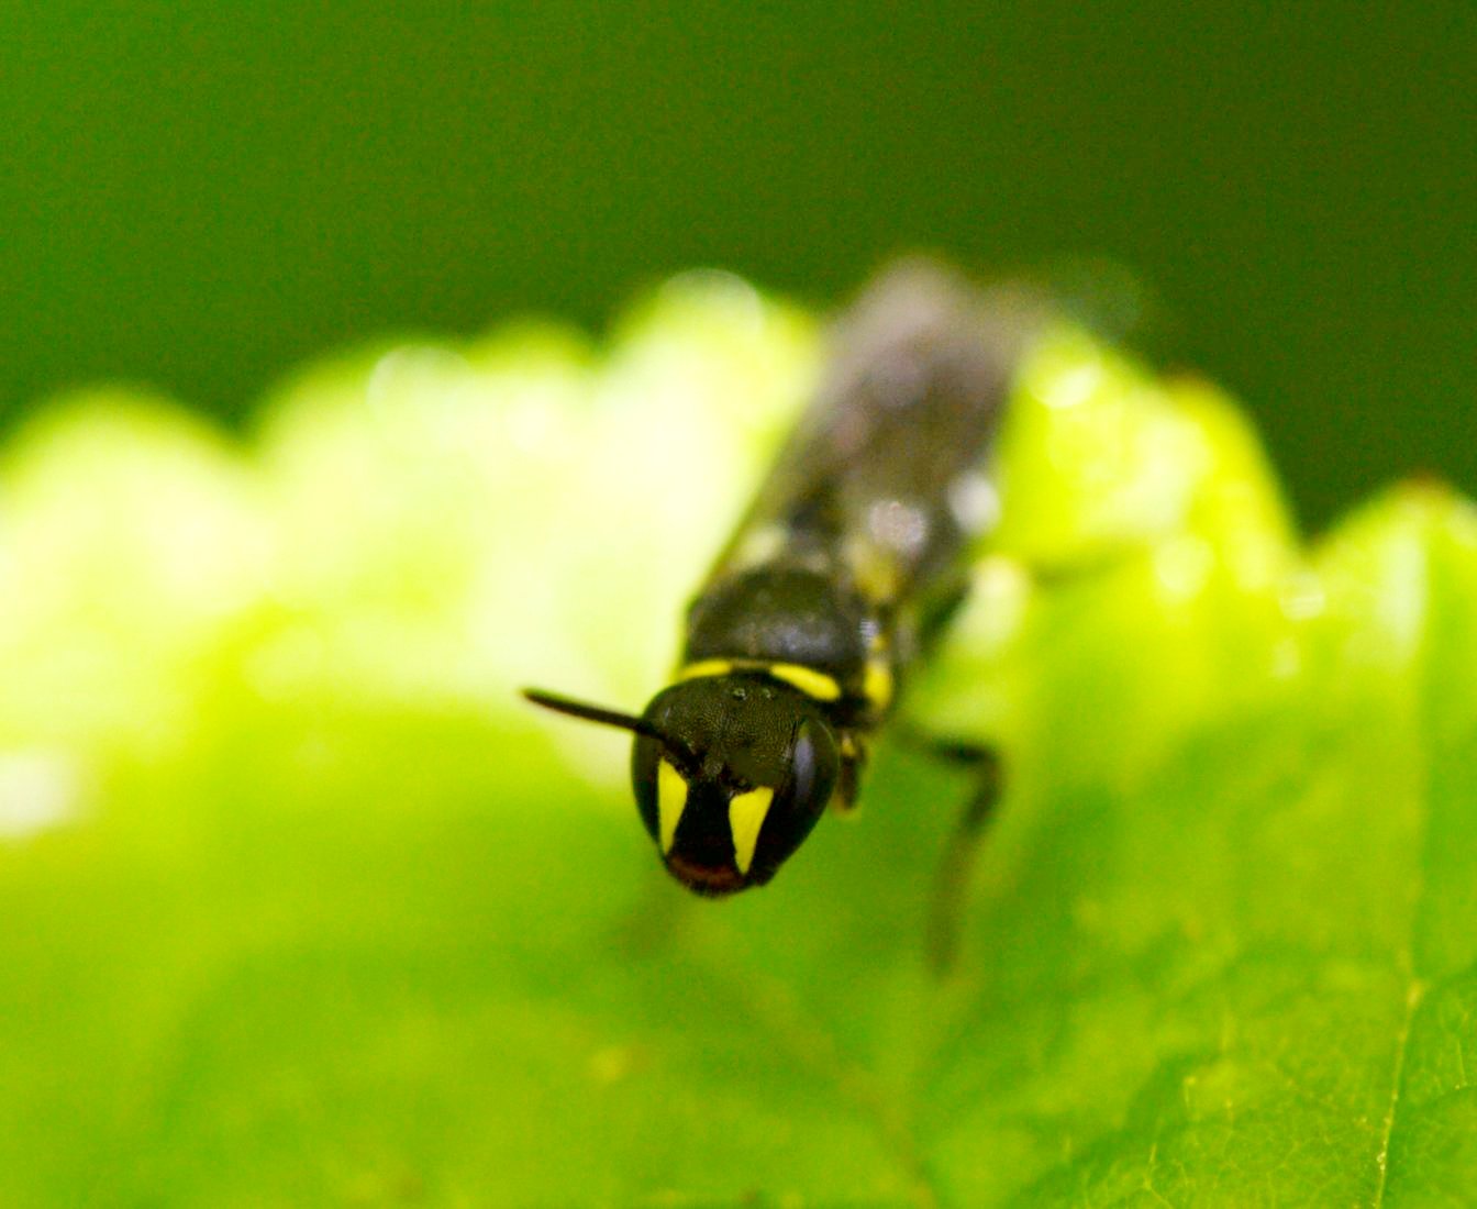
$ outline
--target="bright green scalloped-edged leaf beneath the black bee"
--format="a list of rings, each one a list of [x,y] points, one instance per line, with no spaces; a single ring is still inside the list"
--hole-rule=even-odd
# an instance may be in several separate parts
[[[0,470],[0,1203],[1464,1205],[1477,1187],[1477,516],[1317,550],[1204,384],[1022,375],[1000,539],[777,882],[666,882],[619,735],[815,368],[674,282],[313,369],[235,448],[58,406]],[[1038,572],[1047,573],[1038,573]]]

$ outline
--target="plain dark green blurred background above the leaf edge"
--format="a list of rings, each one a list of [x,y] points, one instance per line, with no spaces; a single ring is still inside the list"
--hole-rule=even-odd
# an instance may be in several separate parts
[[[0,3],[0,420],[712,263],[1109,257],[1310,523],[1477,488],[1477,6]],[[1272,6],[1269,6],[1272,7]]]

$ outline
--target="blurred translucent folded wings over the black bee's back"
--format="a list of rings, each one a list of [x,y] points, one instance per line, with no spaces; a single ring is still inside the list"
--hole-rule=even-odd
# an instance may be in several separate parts
[[[814,402],[715,568],[767,539],[907,597],[993,519],[988,454],[1044,307],[929,260],[885,270],[837,322]]]

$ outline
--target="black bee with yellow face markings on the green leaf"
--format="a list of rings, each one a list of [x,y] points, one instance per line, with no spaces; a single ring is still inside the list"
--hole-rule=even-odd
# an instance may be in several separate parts
[[[765,884],[827,804],[857,803],[868,739],[994,520],[991,452],[1041,318],[932,262],[886,270],[837,322],[814,401],[688,607],[672,683],[640,717],[526,690],[635,733],[641,820],[691,890]],[[979,770],[973,835],[994,760],[938,748]]]

